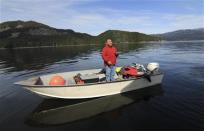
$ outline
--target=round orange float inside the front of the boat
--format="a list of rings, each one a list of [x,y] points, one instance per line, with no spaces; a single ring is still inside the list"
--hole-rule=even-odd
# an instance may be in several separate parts
[[[51,86],[63,86],[65,85],[65,80],[61,76],[53,76],[49,82]]]

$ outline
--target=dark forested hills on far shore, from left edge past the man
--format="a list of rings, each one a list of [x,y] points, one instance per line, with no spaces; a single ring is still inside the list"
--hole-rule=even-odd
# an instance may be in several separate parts
[[[160,40],[157,36],[138,32],[108,30],[98,36],[56,29],[35,21],[9,21],[0,24],[0,47],[38,47],[77,44],[103,44],[107,38],[115,42]]]

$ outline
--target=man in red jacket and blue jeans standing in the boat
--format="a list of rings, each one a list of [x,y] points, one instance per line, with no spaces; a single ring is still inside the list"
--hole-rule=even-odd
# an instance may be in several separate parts
[[[107,39],[105,47],[102,49],[102,58],[105,65],[107,82],[115,80],[114,75],[117,56],[117,49],[113,46],[112,40]]]

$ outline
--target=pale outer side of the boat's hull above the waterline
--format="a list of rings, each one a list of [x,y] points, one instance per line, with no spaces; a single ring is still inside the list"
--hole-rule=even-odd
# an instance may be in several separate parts
[[[161,84],[163,74],[151,76],[151,82],[146,78],[138,78],[134,80],[115,81],[110,83],[95,83],[89,85],[75,86],[26,86],[25,89],[34,92],[46,98],[62,98],[62,99],[84,99],[120,94],[132,90]]]

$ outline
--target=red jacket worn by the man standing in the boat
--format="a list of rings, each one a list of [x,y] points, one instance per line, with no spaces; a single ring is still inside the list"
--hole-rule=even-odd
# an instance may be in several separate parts
[[[102,58],[104,60],[104,64],[108,65],[108,61],[111,61],[113,65],[116,64],[116,55],[117,55],[117,49],[115,47],[109,47],[106,45],[102,49]]]

